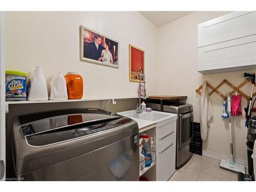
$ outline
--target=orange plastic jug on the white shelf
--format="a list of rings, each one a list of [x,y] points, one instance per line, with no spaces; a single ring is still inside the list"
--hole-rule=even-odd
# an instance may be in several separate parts
[[[78,73],[68,72],[65,75],[68,98],[69,99],[81,99],[83,95],[83,80],[82,76]]]

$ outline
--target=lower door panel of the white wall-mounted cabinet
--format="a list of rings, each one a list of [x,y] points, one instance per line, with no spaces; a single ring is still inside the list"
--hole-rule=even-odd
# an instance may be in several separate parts
[[[228,71],[243,70],[256,66],[256,35],[222,42],[198,49],[198,71],[227,68]],[[240,68],[240,69],[239,69]],[[215,72],[224,72],[215,71]]]

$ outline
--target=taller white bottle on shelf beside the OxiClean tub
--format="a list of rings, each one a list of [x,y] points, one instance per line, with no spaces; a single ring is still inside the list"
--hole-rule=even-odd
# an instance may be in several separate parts
[[[36,66],[28,82],[28,100],[48,100],[46,78],[42,75],[41,66]]]

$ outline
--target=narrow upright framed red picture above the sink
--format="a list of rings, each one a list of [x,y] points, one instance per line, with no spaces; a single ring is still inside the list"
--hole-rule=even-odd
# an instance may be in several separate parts
[[[129,81],[139,82],[141,73],[145,74],[145,51],[129,44]]]

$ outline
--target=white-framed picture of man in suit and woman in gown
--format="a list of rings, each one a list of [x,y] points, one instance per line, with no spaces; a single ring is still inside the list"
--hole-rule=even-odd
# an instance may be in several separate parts
[[[81,25],[80,60],[119,68],[119,41]]]

